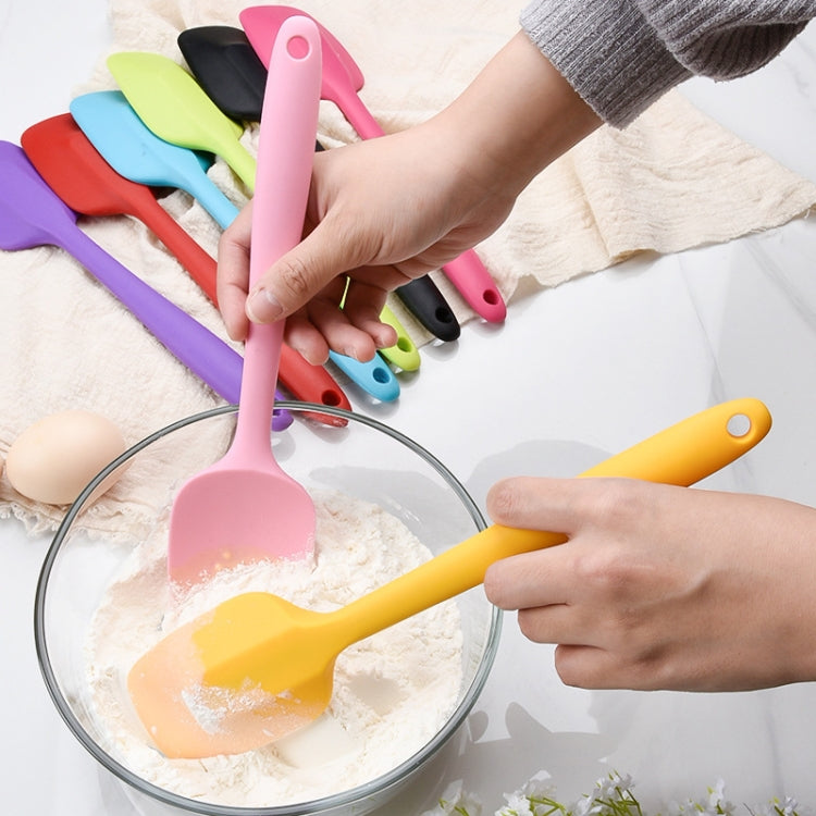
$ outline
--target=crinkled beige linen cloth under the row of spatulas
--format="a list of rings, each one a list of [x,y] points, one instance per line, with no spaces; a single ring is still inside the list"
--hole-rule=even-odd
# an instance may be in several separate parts
[[[238,26],[237,0],[111,0],[111,51],[146,50],[182,62],[176,37],[207,24]],[[302,0],[348,49],[366,77],[361,97],[386,132],[420,122],[450,101],[517,30],[518,9],[503,0]],[[76,89],[114,88],[100,54]],[[54,111],[54,114],[63,111]],[[487,109],[484,115],[491,115]],[[356,138],[329,102],[321,139]],[[254,149],[257,131],[245,141]],[[245,190],[219,160],[212,178],[233,200]],[[161,199],[213,255],[219,230],[186,194]],[[677,252],[769,228],[805,213],[816,187],[702,115],[679,91],[625,132],[602,128],[524,191],[507,223],[478,252],[511,300],[643,250]],[[126,267],[225,337],[215,309],[139,222],[82,219],[82,228]],[[458,317],[473,317],[438,273]],[[395,305],[398,308],[398,305]],[[429,339],[404,311],[418,344]],[[509,314],[512,320],[512,312]],[[467,343],[467,334],[459,341]],[[0,252],[0,454],[30,423],[66,408],[99,411],[128,444],[223,400],[202,385],[72,258],[53,248]],[[420,372],[421,376],[421,372]],[[341,383],[346,381],[337,374]],[[201,426],[143,455],[82,518],[94,534],[136,540],[165,508],[170,485],[221,455],[230,423]],[[0,480],[0,516],[52,529],[64,507],[33,503]]]

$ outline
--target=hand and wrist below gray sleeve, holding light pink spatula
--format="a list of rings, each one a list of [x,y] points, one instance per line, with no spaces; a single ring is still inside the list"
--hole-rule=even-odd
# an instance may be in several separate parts
[[[516,35],[438,114],[314,157],[305,235],[247,293],[251,205],[219,246],[219,305],[233,339],[286,318],[310,362],[360,360],[396,342],[388,292],[493,233],[516,197],[599,125],[527,35]],[[343,309],[338,307],[343,302]]]

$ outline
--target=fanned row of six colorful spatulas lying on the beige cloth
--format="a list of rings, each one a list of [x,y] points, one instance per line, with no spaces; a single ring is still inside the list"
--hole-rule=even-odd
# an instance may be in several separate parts
[[[242,141],[245,128],[260,121],[272,45],[281,25],[306,16],[320,34],[320,96],[343,112],[361,138],[382,129],[358,96],[362,74],[338,40],[320,23],[286,5],[245,9],[239,26],[189,28],[178,36],[188,67],[149,52],[119,52],[108,59],[118,90],[76,97],[70,112],[32,125],[21,147],[0,145],[7,182],[0,201],[0,248],[45,244],[74,256],[102,285],[194,373],[230,403],[238,401],[242,356],[132,270],[95,244],[77,225],[77,215],[128,215],[141,221],[177,259],[202,292],[217,304],[215,259],[162,207],[157,195],[174,188],[195,198],[220,228],[237,215],[236,205],[212,181],[208,169],[220,157],[251,194],[256,159]],[[189,69],[189,70],[188,70]],[[314,148],[322,150],[316,141]],[[23,195],[25,194],[25,195]],[[492,277],[471,250],[442,272],[485,321],[499,323],[506,308]],[[460,326],[430,276],[395,293],[404,307],[441,342],[459,337]],[[394,326],[397,343],[369,362],[330,355],[325,367],[311,366],[288,346],[281,353],[279,383],[296,399],[350,410],[331,367],[380,401],[400,393],[398,372],[417,371],[420,355],[394,311],[381,318]],[[330,424],[336,416],[314,412]],[[273,428],[290,416],[275,409]]]

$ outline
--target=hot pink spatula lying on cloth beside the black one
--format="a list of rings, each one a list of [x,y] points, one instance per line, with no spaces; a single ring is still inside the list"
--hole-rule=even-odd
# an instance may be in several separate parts
[[[264,64],[269,61],[277,29],[293,14],[306,15],[290,5],[254,5],[244,9],[238,15],[247,38]],[[320,30],[323,48],[321,97],[341,109],[361,138],[382,136],[382,127],[357,92],[362,88],[362,72],[339,40],[320,23],[314,22]],[[472,249],[446,263],[442,271],[477,314],[491,323],[500,323],[507,317],[507,307],[502,294]]]

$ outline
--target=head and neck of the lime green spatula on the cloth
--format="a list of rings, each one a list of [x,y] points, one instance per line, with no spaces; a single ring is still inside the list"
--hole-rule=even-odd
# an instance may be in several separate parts
[[[148,51],[120,51],[108,58],[108,67],[156,136],[220,156],[250,191],[255,189],[256,160],[239,141],[244,129],[177,62]]]

